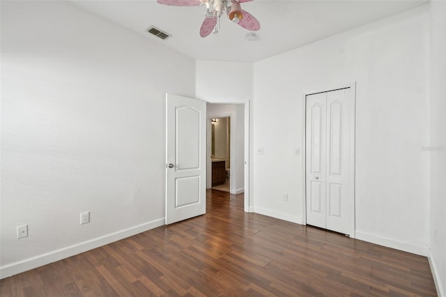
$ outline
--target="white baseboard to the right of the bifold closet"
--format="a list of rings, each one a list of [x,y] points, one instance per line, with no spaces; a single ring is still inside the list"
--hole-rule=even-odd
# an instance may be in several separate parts
[[[407,243],[405,241],[397,241],[392,238],[369,234],[363,231],[355,231],[355,238],[361,241],[368,241],[369,243],[376,243],[377,245],[383,245],[387,248],[394,248],[402,250],[404,252],[410,252],[412,254],[419,254],[420,256],[427,257],[428,248],[427,245]]]

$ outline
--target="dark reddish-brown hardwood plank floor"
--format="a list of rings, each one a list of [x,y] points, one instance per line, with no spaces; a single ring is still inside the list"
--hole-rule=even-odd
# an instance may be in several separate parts
[[[243,212],[208,213],[1,280],[1,296],[436,296],[426,257]]]

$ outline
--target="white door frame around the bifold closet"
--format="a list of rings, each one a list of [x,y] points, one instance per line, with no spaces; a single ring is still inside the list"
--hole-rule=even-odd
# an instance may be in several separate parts
[[[326,93],[330,91],[336,91],[339,89],[351,89],[350,93],[350,100],[353,101],[353,115],[351,117],[351,170],[353,173],[353,181],[352,181],[352,188],[351,188],[351,197],[352,197],[352,203],[351,203],[351,232],[350,237],[355,238],[355,192],[356,192],[356,172],[355,172],[355,135],[356,135],[356,129],[355,129],[355,122],[356,122],[356,82],[350,82],[347,84],[337,84],[334,86],[328,86],[325,88],[316,89],[316,91],[307,91],[305,93],[302,93],[302,224],[307,224],[307,151],[306,151],[306,142],[307,142],[307,135],[306,135],[306,129],[307,129],[307,96],[313,95],[316,93]]]

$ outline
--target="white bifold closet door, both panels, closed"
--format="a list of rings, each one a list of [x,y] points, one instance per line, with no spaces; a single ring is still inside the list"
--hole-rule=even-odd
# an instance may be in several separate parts
[[[351,89],[307,96],[307,224],[350,234],[353,220]]]

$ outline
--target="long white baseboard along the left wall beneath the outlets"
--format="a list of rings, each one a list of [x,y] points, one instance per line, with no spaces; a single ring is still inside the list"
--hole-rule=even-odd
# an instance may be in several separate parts
[[[123,229],[111,234],[93,238],[89,241],[84,241],[82,243],[76,243],[75,245],[70,245],[66,248],[61,248],[59,250],[53,250],[52,252],[46,252],[45,254],[39,254],[38,256],[31,257],[28,259],[23,259],[11,264],[6,264],[0,266],[0,279],[9,277],[11,275],[16,275],[17,273],[22,273],[24,271],[29,271],[33,268],[38,268],[50,264],[61,259],[72,257],[75,254],[80,254],[88,250],[93,250],[94,248],[99,248],[102,245],[107,245],[115,241],[120,241],[123,238],[139,234],[150,229],[163,226],[165,222],[164,218],[153,220],[151,222],[146,222],[144,224],[139,224],[128,229]]]

